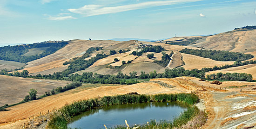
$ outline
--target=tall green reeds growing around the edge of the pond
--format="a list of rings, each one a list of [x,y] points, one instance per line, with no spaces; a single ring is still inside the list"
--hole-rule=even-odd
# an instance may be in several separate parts
[[[166,129],[173,129],[174,127],[181,127],[182,124],[187,123],[193,117],[195,117],[199,110],[192,106],[198,101],[198,97],[194,93],[178,93],[178,94],[158,94],[158,95],[116,95],[116,96],[104,96],[102,98],[93,98],[88,100],[76,101],[73,104],[65,105],[60,110],[55,111],[48,122],[47,127],[49,129],[67,129],[67,123],[71,117],[74,117],[84,111],[91,110],[99,106],[108,106],[115,104],[136,104],[147,102],[171,102],[179,101],[189,104],[187,111],[184,111],[180,117],[175,118],[174,122],[169,121],[158,123],[159,126]],[[153,122],[150,126],[153,126]],[[157,124],[157,123],[155,123]],[[148,125],[141,125],[141,129],[148,129]],[[156,125],[154,125],[156,126]],[[126,127],[119,126],[115,129],[126,129]],[[153,128],[150,128],[153,129]],[[164,128],[162,128],[164,129]]]

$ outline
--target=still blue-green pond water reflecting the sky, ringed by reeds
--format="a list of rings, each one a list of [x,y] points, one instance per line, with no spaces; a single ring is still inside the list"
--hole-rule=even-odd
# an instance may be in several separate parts
[[[168,103],[168,104],[167,104]],[[173,120],[187,109],[187,105],[177,102],[152,102],[142,104],[120,104],[96,108],[72,118],[70,128],[105,129],[115,125],[143,124],[150,120]]]

